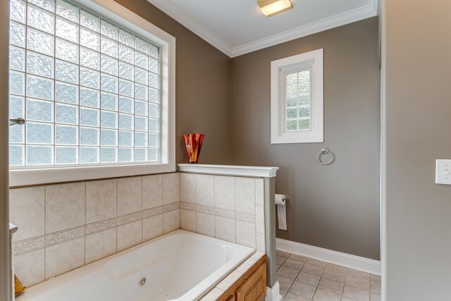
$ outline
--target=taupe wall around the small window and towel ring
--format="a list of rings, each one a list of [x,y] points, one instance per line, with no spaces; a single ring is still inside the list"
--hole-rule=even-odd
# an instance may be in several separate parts
[[[233,163],[279,166],[290,196],[277,237],[379,259],[380,71],[376,18],[232,59]],[[325,143],[271,145],[270,63],[324,49]],[[316,153],[329,147],[335,163]]]

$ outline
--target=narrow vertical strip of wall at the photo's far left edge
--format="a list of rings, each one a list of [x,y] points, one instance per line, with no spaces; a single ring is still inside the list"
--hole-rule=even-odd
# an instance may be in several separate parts
[[[8,36],[9,1],[0,1],[0,300],[11,299],[8,202]]]

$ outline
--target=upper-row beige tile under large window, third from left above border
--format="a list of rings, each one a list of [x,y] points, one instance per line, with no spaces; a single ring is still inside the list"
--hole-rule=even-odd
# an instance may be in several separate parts
[[[86,183],[86,223],[116,217],[116,180]]]

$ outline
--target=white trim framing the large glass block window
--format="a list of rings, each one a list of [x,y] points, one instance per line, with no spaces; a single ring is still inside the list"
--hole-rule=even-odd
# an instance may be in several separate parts
[[[161,48],[161,163],[110,166],[27,168],[9,172],[10,186],[61,183],[96,178],[139,176],[175,171],[175,37],[113,0],[72,0],[147,38]],[[16,125],[19,126],[19,125]]]

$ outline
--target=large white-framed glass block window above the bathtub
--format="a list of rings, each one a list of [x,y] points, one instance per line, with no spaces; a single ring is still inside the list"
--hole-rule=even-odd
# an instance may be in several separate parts
[[[175,171],[175,37],[113,0],[10,16],[10,185]]]

